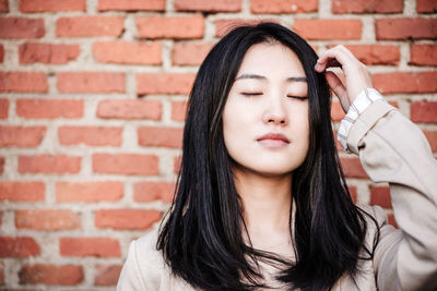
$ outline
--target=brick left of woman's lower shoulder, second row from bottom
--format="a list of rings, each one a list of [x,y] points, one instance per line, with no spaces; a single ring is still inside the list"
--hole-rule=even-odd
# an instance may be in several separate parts
[[[109,238],[60,238],[61,256],[120,257],[118,240]]]

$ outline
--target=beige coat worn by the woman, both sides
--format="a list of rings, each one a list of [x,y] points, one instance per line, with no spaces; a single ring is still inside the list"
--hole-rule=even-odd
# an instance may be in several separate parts
[[[381,226],[373,260],[361,260],[354,278],[342,277],[333,290],[437,290],[437,161],[421,130],[383,100],[354,122],[349,148],[359,156],[374,182],[390,184],[399,230],[378,206],[363,206]],[[373,223],[366,243],[376,233]],[[155,250],[157,232],[133,241],[117,290],[193,290],[174,278]]]

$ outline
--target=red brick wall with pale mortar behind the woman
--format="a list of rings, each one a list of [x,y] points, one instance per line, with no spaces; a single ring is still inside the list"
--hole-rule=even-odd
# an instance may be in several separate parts
[[[168,207],[198,65],[236,22],[274,20],[318,52],[346,45],[436,154],[436,12],[435,0],[0,0],[0,289],[115,289],[129,242]],[[387,185],[340,154],[354,199],[395,223]]]

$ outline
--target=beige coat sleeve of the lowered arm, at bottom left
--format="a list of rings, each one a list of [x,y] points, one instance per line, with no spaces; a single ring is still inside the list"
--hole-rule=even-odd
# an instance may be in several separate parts
[[[137,256],[137,242],[129,245],[128,257],[118,278],[117,291],[147,290],[141,277],[140,265]]]

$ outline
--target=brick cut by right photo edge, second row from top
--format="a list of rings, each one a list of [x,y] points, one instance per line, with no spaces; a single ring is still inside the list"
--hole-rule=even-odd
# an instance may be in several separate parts
[[[376,39],[435,39],[435,19],[381,19],[375,21]]]

